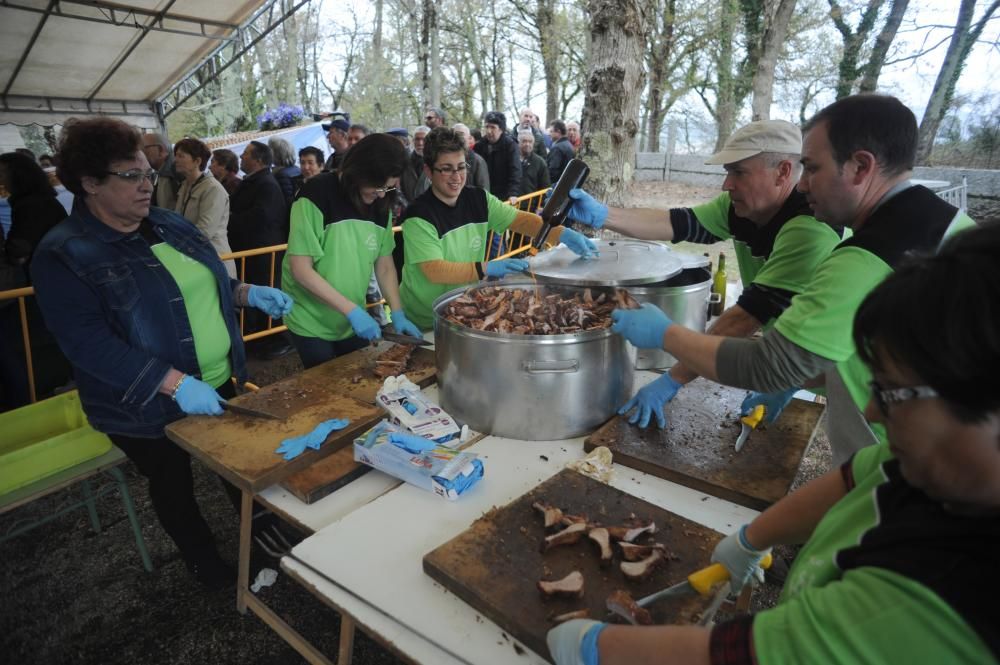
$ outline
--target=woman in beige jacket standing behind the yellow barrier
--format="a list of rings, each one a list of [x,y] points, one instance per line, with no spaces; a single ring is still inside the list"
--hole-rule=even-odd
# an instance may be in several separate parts
[[[176,212],[198,227],[219,254],[230,254],[229,193],[212,174],[206,173],[212,151],[194,138],[174,144],[174,169],[184,178],[177,192]],[[230,277],[236,277],[236,263],[225,261]]]

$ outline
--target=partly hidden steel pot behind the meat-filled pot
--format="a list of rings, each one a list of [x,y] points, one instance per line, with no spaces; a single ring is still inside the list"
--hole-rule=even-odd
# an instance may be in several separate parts
[[[675,323],[704,332],[712,294],[712,275],[707,267],[685,268],[681,274],[664,282],[627,288],[633,298],[656,305]],[[639,349],[635,366],[636,369],[664,369],[673,367],[676,362],[677,359],[663,349]]]

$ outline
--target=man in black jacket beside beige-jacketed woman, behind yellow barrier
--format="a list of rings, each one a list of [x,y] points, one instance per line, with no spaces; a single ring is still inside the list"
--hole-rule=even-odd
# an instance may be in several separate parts
[[[285,234],[285,219],[288,209],[285,207],[285,195],[281,186],[271,174],[273,156],[267,144],[251,141],[240,156],[240,168],[245,174],[243,181],[229,197],[229,246],[234,252],[269,247],[288,242]],[[281,287],[281,260],[284,252],[279,252],[275,258],[274,284]],[[248,284],[271,283],[271,257],[250,257],[246,260],[246,275],[243,280]],[[244,332],[257,332],[267,327],[265,315],[254,308],[247,308],[244,320]],[[274,325],[281,325],[275,321]],[[257,352],[265,358],[277,358],[292,350],[287,339],[278,339],[282,335],[272,335],[262,340],[263,348],[248,351]],[[274,341],[272,341],[274,338]]]

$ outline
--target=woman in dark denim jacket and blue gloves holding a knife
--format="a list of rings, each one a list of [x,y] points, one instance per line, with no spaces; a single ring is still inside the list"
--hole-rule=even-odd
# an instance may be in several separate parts
[[[246,380],[236,307],[280,317],[292,301],[230,278],[201,231],[151,206],[157,173],[135,127],[70,119],[57,162],[76,198],[32,260],[45,322],[73,365],[87,420],[149,480],[191,573],[208,587],[232,584],[195,502],[190,458],[164,428],[185,414],[222,414],[230,377]],[[223,485],[239,506],[239,491]]]

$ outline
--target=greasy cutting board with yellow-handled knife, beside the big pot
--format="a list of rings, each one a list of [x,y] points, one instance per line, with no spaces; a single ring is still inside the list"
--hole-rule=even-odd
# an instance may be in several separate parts
[[[584,450],[607,446],[619,464],[763,510],[788,494],[824,407],[793,399],[777,422],[760,425],[737,453],[746,395],[697,379],[667,405],[666,429],[655,420],[640,429],[616,416],[587,438]]]

